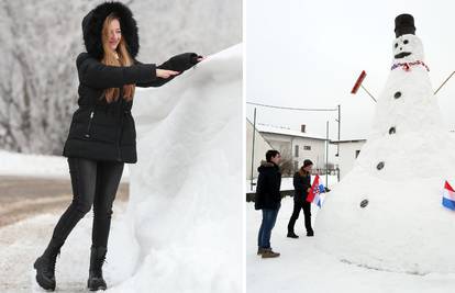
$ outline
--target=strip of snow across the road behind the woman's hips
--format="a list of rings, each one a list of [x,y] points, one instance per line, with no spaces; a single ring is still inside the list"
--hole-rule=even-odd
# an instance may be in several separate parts
[[[0,149],[0,176],[68,178],[66,157],[27,155]],[[122,182],[130,177],[129,165],[123,169]]]

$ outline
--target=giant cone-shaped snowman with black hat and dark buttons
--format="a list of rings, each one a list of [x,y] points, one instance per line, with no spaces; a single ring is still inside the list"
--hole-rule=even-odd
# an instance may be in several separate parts
[[[444,181],[455,179],[455,144],[440,119],[412,15],[395,24],[392,66],[369,137],[318,214],[315,240],[365,268],[455,272],[455,212],[441,204]]]

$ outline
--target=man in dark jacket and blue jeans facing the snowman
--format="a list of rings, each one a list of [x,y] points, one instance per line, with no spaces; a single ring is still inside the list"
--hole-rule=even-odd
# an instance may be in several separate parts
[[[281,194],[279,192],[281,173],[278,167],[280,160],[279,151],[270,149],[266,153],[266,161],[263,161],[257,168],[259,176],[257,178],[255,209],[263,210],[263,222],[257,237],[257,255],[263,258],[279,257],[278,252],[271,250],[270,236],[281,206]]]

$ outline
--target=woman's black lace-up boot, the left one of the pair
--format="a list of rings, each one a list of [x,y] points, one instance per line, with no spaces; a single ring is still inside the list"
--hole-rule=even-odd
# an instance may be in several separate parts
[[[60,252],[60,246],[49,244],[43,256],[33,263],[36,269],[36,282],[45,290],[55,290],[55,262]]]

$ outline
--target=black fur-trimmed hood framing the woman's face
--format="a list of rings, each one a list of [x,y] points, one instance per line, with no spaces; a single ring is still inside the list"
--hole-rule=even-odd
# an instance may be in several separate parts
[[[101,41],[102,24],[111,12],[115,12],[120,18],[122,37],[126,42],[126,48],[130,55],[135,58],[140,49],[137,24],[131,10],[121,2],[101,3],[84,18],[82,33],[87,53],[98,60],[103,57],[104,53]]]

